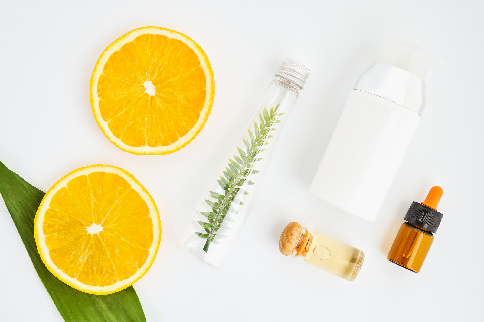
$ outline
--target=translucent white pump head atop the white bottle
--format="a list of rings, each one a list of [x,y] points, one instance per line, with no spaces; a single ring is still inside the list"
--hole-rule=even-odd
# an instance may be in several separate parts
[[[385,49],[378,60],[384,63],[398,67],[402,70],[420,77],[425,78],[430,66],[442,66],[444,61],[428,50],[397,38],[385,38],[383,40]]]

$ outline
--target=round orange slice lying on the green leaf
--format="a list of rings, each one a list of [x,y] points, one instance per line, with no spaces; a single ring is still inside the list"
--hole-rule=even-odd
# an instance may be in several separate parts
[[[45,194],[34,221],[37,250],[59,280],[110,294],[139,280],[160,246],[160,217],[146,189],[111,166],[79,168]]]

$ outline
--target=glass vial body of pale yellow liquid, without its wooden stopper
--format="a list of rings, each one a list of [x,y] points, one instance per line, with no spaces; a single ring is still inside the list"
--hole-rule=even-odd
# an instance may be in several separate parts
[[[349,281],[356,279],[364,258],[359,249],[319,233],[309,239],[302,255],[306,263]]]

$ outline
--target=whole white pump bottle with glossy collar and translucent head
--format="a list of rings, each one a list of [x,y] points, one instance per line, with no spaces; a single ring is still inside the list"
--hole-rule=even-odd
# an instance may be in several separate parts
[[[388,38],[378,63],[358,79],[309,193],[369,221],[378,212],[420,122],[423,79],[443,62],[409,42]]]

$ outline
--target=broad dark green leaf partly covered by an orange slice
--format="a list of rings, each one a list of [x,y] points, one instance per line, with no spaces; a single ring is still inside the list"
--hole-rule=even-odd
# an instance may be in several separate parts
[[[35,245],[33,220],[45,193],[0,162],[0,193],[47,292],[66,322],[146,322],[133,286],[107,295],[78,291],[45,267]]]

